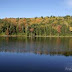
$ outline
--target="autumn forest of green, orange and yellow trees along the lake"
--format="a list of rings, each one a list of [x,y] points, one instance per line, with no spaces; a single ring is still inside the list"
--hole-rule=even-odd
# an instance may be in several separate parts
[[[72,16],[0,19],[0,35],[71,36]]]

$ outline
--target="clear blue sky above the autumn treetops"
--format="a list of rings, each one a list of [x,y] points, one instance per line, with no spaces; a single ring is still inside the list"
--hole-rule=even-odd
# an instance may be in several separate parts
[[[0,0],[0,18],[72,15],[72,0]]]

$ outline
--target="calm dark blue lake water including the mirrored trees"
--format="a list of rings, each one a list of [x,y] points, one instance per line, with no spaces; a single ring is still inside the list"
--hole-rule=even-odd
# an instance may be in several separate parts
[[[71,72],[72,38],[0,37],[0,72]]]

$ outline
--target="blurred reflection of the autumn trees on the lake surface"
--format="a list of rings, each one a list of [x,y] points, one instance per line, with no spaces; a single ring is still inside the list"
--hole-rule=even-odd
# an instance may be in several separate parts
[[[0,37],[0,52],[72,55],[72,38]]]

